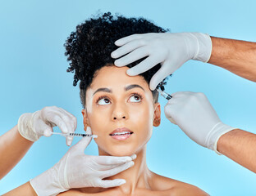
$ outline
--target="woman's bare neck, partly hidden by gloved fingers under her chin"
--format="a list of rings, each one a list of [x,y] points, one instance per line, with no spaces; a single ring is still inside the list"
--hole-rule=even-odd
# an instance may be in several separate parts
[[[99,150],[99,155],[103,154]],[[132,194],[135,192],[136,188],[145,188],[149,189],[149,179],[151,172],[146,163],[146,145],[141,149],[135,158],[135,165],[130,167],[126,171],[122,171],[115,176],[106,178],[105,180],[114,180],[114,179],[125,179],[126,183],[117,187],[123,194]]]

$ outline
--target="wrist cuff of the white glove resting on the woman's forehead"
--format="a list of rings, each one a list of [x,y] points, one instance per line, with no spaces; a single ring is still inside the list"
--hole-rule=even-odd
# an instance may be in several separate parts
[[[193,60],[208,62],[212,54],[212,39],[206,33],[190,33],[191,37],[196,39],[197,50],[194,53]]]

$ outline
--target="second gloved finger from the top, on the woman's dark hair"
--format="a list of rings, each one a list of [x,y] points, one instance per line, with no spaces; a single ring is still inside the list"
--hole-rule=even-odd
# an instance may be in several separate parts
[[[112,51],[111,56],[112,58],[117,59],[120,56],[124,56],[127,53],[130,53],[130,51],[134,51],[138,47],[142,47],[143,45],[144,45],[144,42],[138,42],[138,40],[128,42],[126,43],[126,45],[117,48],[116,51]],[[115,65],[117,65],[116,61],[115,61]],[[117,66],[121,66],[121,65],[117,65]]]

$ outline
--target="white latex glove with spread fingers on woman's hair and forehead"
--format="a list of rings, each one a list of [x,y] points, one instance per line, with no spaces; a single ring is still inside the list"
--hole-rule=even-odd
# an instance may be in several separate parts
[[[162,67],[153,75],[149,87],[153,91],[171,73],[187,60],[208,62],[212,53],[212,40],[204,33],[144,33],[133,34],[115,42],[120,47],[113,51],[112,58],[118,67],[149,56],[127,70],[130,76],[143,73],[161,63]],[[126,55],[129,53],[128,55]],[[124,56],[126,55],[126,56]]]

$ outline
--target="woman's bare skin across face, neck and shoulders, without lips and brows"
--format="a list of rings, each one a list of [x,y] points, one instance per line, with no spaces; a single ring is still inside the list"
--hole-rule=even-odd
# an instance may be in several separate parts
[[[95,139],[98,154],[137,155],[133,167],[105,179],[125,179],[126,184],[111,189],[71,189],[59,195],[208,195],[193,185],[159,176],[147,167],[146,144],[152,135],[153,126],[160,125],[161,109],[159,103],[153,102],[152,92],[144,78],[126,75],[127,69],[116,66],[99,69],[86,92],[86,107],[82,111],[85,130],[89,126],[93,134],[98,135]],[[135,87],[125,91],[125,87],[131,84],[139,85],[144,90]],[[112,92],[99,91],[94,94],[103,87]],[[102,96],[104,98],[100,98]],[[117,127],[127,127],[134,134],[127,140],[112,139],[109,133]]]

